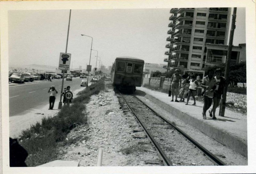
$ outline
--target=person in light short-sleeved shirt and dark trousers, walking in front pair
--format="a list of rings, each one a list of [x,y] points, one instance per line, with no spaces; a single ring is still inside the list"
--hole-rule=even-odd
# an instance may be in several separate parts
[[[203,80],[201,86],[204,88],[204,107],[203,107],[203,119],[206,120],[206,111],[212,105],[213,98],[213,88],[216,83],[215,78],[213,77],[213,69],[209,69]]]

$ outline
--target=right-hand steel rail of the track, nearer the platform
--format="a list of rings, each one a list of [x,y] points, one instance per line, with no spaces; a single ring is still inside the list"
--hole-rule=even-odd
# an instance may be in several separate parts
[[[133,95],[134,96],[134,95]],[[134,96],[136,97],[136,96]],[[138,97],[136,97],[137,99],[139,99]],[[151,107],[149,107],[146,103],[144,103],[141,99],[139,99],[140,102],[142,102],[144,105],[146,105],[152,112],[154,112],[158,117],[160,117],[161,119],[163,119],[165,122],[169,123],[170,125],[172,125],[180,134],[182,134],[185,138],[187,138],[191,143],[193,143],[198,149],[200,149],[205,155],[207,155],[209,157],[209,159],[220,166],[225,166],[227,165],[225,162],[221,161],[217,156],[215,156],[214,154],[212,154],[210,151],[208,151],[206,148],[204,148],[202,145],[200,145],[196,140],[194,140],[192,137],[190,137],[188,134],[186,134],[184,131],[180,130],[180,128],[178,128],[177,126],[173,125],[171,122],[169,122],[167,119],[165,119],[164,117],[162,117],[160,114],[158,114],[154,109],[152,109]]]

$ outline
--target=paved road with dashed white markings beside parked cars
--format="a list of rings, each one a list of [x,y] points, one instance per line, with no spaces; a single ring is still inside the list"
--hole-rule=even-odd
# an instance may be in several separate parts
[[[89,77],[89,82],[92,78]],[[70,86],[72,91],[85,88],[80,86],[81,80],[79,77],[73,78],[73,81],[64,79],[64,88]],[[62,79],[52,82],[44,81],[42,83],[9,86],[9,116],[22,115],[29,109],[36,109],[42,105],[49,104],[48,90],[52,85],[59,92],[54,104],[54,109],[57,109],[60,101],[61,84]]]

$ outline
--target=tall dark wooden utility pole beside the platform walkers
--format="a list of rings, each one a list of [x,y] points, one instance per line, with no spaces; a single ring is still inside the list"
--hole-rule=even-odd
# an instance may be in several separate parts
[[[228,73],[229,73],[229,66],[230,66],[230,59],[231,59],[231,52],[232,52],[232,47],[233,47],[233,37],[234,37],[235,28],[236,28],[236,7],[234,7],[234,11],[233,11],[233,15],[232,15],[232,24],[231,24],[231,30],[230,30],[230,36],[229,36],[227,61],[226,61],[226,67],[225,67],[226,84],[224,87],[224,93],[222,94],[221,105],[220,105],[220,116],[223,116],[223,117],[225,115],[225,108],[226,108],[226,97],[227,97],[227,91],[228,91]]]

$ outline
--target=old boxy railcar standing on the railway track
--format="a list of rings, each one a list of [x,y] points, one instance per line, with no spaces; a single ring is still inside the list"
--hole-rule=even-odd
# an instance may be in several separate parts
[[[134,92],[142,83],[144,60],[117,57],[111,70],[111,81],[118,90]]]

